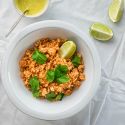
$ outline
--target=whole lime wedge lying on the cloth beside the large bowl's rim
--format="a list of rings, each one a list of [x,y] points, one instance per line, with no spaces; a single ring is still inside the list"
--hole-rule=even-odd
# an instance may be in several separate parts
[[[94,23],[90,28],[90,34],[97,40],[107,41],[113,37],[112,30],[101,23]]]

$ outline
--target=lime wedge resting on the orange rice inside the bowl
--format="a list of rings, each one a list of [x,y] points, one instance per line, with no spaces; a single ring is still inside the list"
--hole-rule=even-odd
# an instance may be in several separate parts
[[[76,51],[76,44],[73,41],[65,42],[59,49],[59,55],[61,58],[68,59]]]

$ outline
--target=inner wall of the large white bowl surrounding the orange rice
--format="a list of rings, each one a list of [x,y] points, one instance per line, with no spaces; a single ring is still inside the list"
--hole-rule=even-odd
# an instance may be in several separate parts
[[[73,40],[76,42],[78,50],[83,55],[85,62],[86,80],[83,81],[78,90],[74,91],[72,95],[65,97],[60,102],[51,103],[46,100],[38,100],[34,98],[31,92],[25,88],[23,81],[20,78],[18,65],[20,58],[34,41],[43,37],[61,37]],[[56,119],[59,115],[66,113],[69,114],[72,110],[77,110],[77,108],[86,103],[91,95],[91,90],[93,89],[92,86],[94,84],[93,80],[95,77],[93,56],[84,39],[72,31],[58,27],[46,27],[34,30],[16,41],[16,45],[11,53],[8,53],[8,57],[7,77],[9,78],[9,87],[14,98],[17,99],[20,105],[24,106],[31,115],[36,115],[36,117],[43,119]]]

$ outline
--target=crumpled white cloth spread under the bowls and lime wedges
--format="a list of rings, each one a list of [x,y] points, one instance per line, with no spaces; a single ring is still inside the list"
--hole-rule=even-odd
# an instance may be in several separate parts
[[[93,38],[102,64],[100,87],[92,101],[77,115],[58,121],[32,118],[19,111],[8,99],[0,83],[0,125],[124,125],[125,124],[125,15],[119,23],[108,17],[111,0],[51,0],[47,12],[36,19],[24,18],[11,36],[3,41],[18,14],[13,0],[0,1],[0,60],[15,33],[23,27],[42,20],[64,20],[76,25],[86,35],[93,22],[109,25],[114,38],[101,43]]]

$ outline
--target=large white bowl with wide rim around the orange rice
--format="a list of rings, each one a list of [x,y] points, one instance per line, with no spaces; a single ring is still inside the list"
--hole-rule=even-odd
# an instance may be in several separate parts
[[[73,40],[84,57],[86,80],[72,95],[59,102],[34,98],[20,78],[21,56],[42,37]],[[43,21],[26,27],[10,41],[2,62],[2,83],[13,104],[28,115],[46,120],[67,118],[82,110],[94,96],[100,76],[101,65],[93,43],[79,29],[61,21]]]

